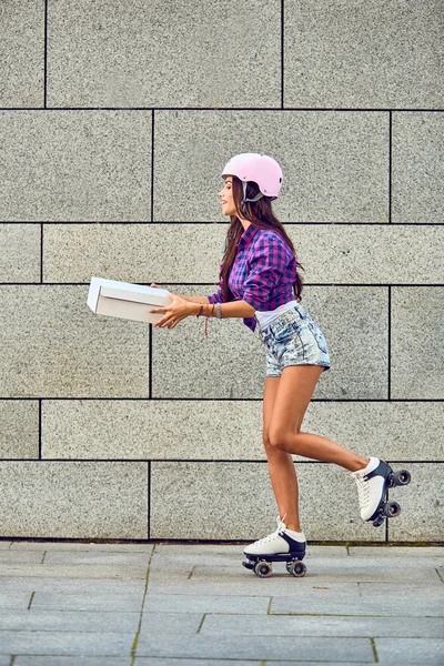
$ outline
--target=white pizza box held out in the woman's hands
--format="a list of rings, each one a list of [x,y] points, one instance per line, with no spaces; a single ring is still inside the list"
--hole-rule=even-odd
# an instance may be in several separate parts
[[[151,307],[170,305],[172,299],[165,289],[91,278],[88,292],[88,305],[95,314],[153,323],[162,319],[163,313],[148,311]]]

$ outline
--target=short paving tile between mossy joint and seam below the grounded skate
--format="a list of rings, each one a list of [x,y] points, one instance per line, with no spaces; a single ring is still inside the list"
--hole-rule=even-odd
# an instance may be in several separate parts
[[[250,596],[246,602],[240,595],[206,596],[149,593],[143,606],[143,613],[243,613],[245,604],[248,604],[250,614],[262,615],[268,612],[270,597]]]

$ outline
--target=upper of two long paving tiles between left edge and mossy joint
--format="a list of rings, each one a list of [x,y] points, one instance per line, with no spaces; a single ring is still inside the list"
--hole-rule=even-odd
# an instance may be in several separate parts
[[[124,634],[139,627],[140,609],[132,613],[43,610],[31,606],[30,610],[8,610],[0,615],[0,632],[115,632]],[[198,625],[199,626],[199,625]],[[0,634],[1,637],[1,634]]]

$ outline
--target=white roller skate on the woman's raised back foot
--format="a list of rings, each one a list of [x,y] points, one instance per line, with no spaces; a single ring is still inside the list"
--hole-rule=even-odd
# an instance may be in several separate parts
[[[371,457],[364,470],[350,472],[355,480],[361,507],[361,517],[367,523],[373,522],[375,527],[382,525],[385,518],[400,515],[401,506],[397,502],[386,501],[386,492],[397,485],[407,485],[412,477],[407,470],[393,472],[392,467],[380,458]]]

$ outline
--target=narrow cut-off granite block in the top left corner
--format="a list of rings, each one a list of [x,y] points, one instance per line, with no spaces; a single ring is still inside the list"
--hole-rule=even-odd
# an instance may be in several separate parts
[[[43,108],[44,0],[2,2],[0,107]]]

